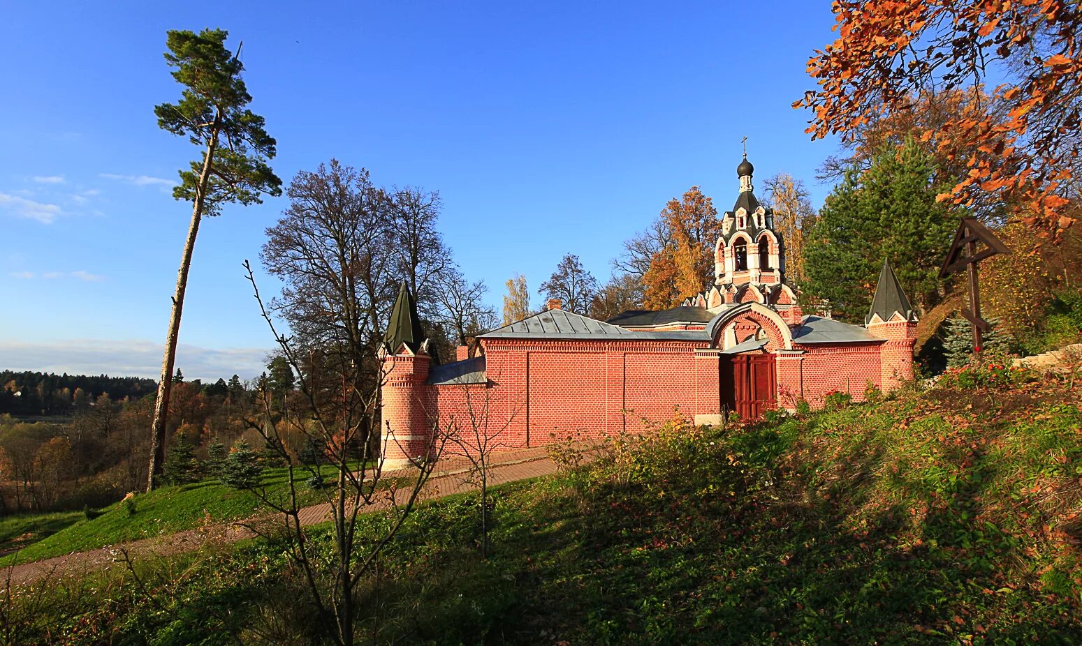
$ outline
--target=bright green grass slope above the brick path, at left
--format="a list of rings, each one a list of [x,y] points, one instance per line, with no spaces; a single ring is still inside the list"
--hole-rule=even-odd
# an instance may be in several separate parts
[[[324,466],[325,476],[334,468]],[[321,494],[307,487],[307,472],[294,470],[301,504],[317,504]],[[285,499],[288,493],[288,470],[267,469],[261,480],[268,495]],[[119,542],[153,538],[206,523],[238,521],[267,513],[255,494],[227,487],[217,480],[203,480],[183,486],[168,486],[134,497],[135,513],[129,513],[124,502],[117,502],[98,512],[93,520],[82,513],[64,516],[67,526],[56,527],[49,536],[26,544],[17,553],[0,558],[0,566],[40,561],[71,552],[93,550]],[[53,514],[44,514],[50,517]]]

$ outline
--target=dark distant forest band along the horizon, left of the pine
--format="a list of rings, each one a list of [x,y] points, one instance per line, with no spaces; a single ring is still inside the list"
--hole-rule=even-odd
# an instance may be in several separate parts
[[[0,371],[0,415],[71,415],[102,394],[132,401],[157,388],[157,381],[141,377]]]

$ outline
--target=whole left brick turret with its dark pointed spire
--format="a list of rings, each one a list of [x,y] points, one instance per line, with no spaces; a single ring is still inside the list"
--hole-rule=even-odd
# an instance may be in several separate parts
[[[380,390],[383,468],[398,469],[431,457],[435,398],[428,386],[432,356],[421,331],[417,305],[403,283],[391,314],[383,350]]]

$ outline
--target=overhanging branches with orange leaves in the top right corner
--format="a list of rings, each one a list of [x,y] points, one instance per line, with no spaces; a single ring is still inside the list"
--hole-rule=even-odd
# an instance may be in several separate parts
[[[992,90],[982,109],[929,123],[924,142],[949,157],[975,150],[940,200],[982,211],[1010,204],[1056,238],[1078,216],[1082,149],[1082,11],[1077,0],[835,0],[837,39],[808,60],[819,88],[813,138],[853,140],[905,112],[922,92]]]

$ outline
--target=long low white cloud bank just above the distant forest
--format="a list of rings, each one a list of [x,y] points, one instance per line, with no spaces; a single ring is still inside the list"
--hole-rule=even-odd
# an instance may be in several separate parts
[[[145,339],[71,339],[52,342],[0,340],[0,369],[111,375],[157,379],[164,346]],[[270,348],[201,348],[181,344],[176,367],[185,379],[253,379],[266,369]]]

